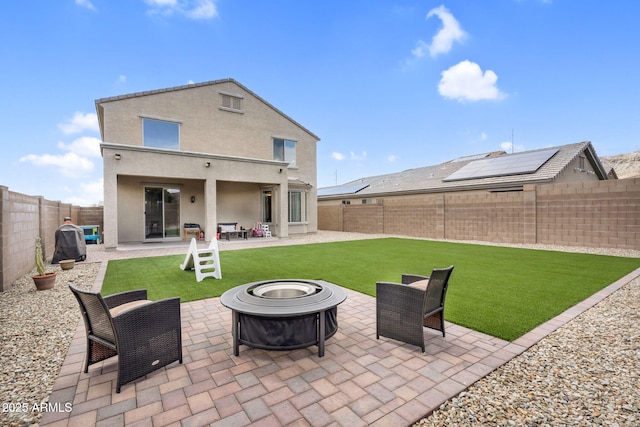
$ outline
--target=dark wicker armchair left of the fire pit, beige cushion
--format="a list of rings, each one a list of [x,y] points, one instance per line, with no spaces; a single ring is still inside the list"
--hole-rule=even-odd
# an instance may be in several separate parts
[[[118,356],[116,392],[163,366],[182,363],[180,298],[148,301],[146,289],[102,297],[69,286],[87,329],[89,365]]]

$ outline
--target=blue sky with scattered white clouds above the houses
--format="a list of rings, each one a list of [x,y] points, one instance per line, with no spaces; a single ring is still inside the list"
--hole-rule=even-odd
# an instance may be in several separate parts
[[[96,99],[229,77],[321,138],[320,187],[501,149],[638,151],[638,18],[626,0],[4,1],[0,185],[99,203]]]

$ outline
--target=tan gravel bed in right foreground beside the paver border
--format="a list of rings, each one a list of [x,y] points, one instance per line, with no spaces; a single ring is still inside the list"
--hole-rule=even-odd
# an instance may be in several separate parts
[[[640,278],[415,426],[640,425]]]

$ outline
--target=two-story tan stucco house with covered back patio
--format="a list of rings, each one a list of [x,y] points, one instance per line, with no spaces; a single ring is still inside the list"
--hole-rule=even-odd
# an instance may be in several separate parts
[[[199,224],[317,231],[319,138],[233,79],[95,101],[104,244],[181,240]]]

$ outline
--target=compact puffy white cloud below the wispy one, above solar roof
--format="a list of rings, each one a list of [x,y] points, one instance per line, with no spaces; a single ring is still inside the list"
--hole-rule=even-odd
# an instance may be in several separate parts
[[[458,101],[500,100],[505,95],[496,86],[497,81],[493,71],[483,73],[478,64],[465,60],[442,72],[438,92]]]

